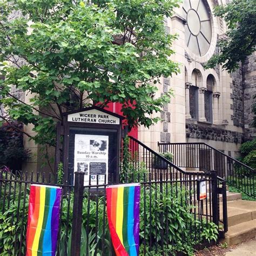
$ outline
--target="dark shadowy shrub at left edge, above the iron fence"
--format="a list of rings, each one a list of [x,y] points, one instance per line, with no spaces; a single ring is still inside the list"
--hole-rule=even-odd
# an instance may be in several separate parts
[[[22,161],[29,158],[29,151],[23,147],[22,130],[23,125],[16,121],[3,123],[0,127],[0,168],[7,166],[11,170],[21,170]]]

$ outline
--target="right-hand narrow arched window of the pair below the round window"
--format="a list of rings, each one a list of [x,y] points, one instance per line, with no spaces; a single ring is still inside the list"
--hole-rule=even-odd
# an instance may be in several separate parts
[[[205,118],[207,122],[212,123],[212,92],[215,86],[215,78],[208,75],[206,80],[207,91],[205,92]]]

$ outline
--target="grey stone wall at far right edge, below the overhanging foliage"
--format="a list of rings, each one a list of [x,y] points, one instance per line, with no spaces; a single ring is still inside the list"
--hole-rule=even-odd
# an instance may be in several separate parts
[[[256,128],[252,126],[253,117],[255,114],[252,112],[253,104],[256,99],[256,53],[254,52],[250,57],[245,60],[242,67],[244,75],[244,120],[245,120],[245,139],[256,138]]]

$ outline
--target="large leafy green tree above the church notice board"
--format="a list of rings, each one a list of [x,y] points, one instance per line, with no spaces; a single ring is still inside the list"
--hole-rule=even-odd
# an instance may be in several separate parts
[[[10,117],[35,125],[32,139],[49,145],[63,112],[85,106],[119,102],[130,127],[157,122],[150,114],[172,92],[153,98],[156,84],[179,71],[170,59],[176,36],[164,29],[176,6],[176,0],[1,1],[0,96]],[[9,20],[17,10],[22,16]],[[15,97],[13,85],[31,93],[30,101]]]

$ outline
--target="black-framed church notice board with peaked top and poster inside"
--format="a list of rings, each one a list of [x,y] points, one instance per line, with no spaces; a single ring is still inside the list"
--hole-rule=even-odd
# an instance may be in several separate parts
[[[104,184],[105,180],[106,183],[118,181],[123,119],[97,106],[64,113],[66,184],[74,183],[75,172],[84,172],[85,186],[89,185],[89,180],[91,185]]]

